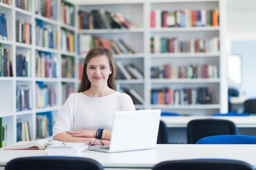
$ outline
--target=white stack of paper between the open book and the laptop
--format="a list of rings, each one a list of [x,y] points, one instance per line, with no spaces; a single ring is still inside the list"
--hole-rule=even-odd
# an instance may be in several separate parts
[[[85,145],[85,143],[62,142],[61,144],[48,146],[45,151],[47,155],[76,156],[86,148],[88,148],[88,145]]]

